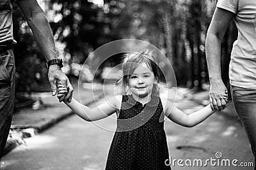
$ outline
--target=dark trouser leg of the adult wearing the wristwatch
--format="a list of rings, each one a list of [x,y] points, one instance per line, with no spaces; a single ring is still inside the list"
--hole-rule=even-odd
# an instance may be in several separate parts
[[[0,159],[8,138],[15,99],[15,64],[13,50],[0,54]]]

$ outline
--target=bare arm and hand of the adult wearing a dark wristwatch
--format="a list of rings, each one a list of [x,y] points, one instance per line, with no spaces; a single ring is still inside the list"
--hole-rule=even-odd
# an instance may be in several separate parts
[[[29,27],[31,28],[36,42],[40,47],[46,61],[52,59],[57,59],[58,55],[54,45],[54,39],[52,36],[52,31],[49,26],[49,22],[45,17],[45,13],[40,8],[36,0],[17,0],[16,3],[19,5],[20,10],[24,14]],[[61,71],[60,66],[57,64],[49,66],[48,78],[51,83],[52,96],[56,95],[56,83],[61,83],[68,87],[68,94],[65,99],[71,101],[73,87],[70,84],[67,76]],[[63,101],[60,99],[60,101]]]

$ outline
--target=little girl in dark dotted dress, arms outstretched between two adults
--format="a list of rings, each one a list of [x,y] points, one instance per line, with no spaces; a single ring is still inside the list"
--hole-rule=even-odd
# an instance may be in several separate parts
[[[117,128],[107,160],[106,169],[170,169],[168,146],[164,132],[164,115],[173,122],[193,127],[214,111],[208,105],[186,115],[167,99],[159,97],[159,67],[152,53],[130,53],[124,59],[122,95],[90,109],[75,99],[65,101],[74,113],[86,121],[117,115]],[[67,94],[58,86],[58,97]],[[227,94],[225,95],[227,99]],[[166,166],[167,164],[167,166]]]

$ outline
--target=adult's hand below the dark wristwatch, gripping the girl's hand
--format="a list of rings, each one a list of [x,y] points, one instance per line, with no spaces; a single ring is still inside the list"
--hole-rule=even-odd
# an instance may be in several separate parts
[[[73,87],[68,80],[67,76],[61,71],[60,66],[57,64],[53,64],[49,66],[49,71],[48,71],[48,79],[49,82],[51,83],[51,90],[52,90],[52,96],[55,96],[57,94],[57,83],[60,83],[61,85],[64,85],[68,89],[67,96],[63,96],[59,99],[59,101],[64,101],[67,100],[68,102],[71,101],[72,99],[72,94],[73,94]]]

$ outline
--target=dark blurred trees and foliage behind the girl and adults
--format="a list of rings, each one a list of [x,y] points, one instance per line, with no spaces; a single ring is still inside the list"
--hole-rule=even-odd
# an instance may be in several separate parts
[[[56,49],[70,80],[81,73],[82,81],[93,75],[82,66],[88,55],[110,41],[132,38],[157,46],[170,60],[179,87],[196,91],[209,87],[205,36],[216,0],[38,0],[50,22]],[[17,6],[13,13],[16,106],[31,102],[32,91],[49,91],[47,67],[33,34]],[[228,63],[237,30],[230,24],[222,41],[223,81],[228,82]],[[120,55],[101,64],[95,79],[120,62]],[[74,81],[73,81],[74,82]]]

